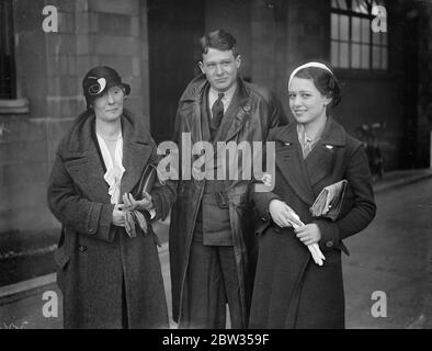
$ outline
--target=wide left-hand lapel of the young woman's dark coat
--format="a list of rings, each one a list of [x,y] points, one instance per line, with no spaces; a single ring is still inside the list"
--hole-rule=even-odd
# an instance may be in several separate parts
[[[277,168],[293,191],[310,206],[315,201],[315,195],[309,183],[308,170],[303,160],[296,124],[291,123],[280,128],[275,140]]]

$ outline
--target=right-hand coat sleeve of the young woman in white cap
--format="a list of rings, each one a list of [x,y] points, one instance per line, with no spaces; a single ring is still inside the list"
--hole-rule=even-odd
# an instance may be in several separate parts
[[[340,219],[315,219],[321,231],[320,245],[325,250],[367,227],[375,217],[376,205],[372,188],[372,178],[364,147],[360,145],[350,157],[345,179],[354,192],[352,208]]]

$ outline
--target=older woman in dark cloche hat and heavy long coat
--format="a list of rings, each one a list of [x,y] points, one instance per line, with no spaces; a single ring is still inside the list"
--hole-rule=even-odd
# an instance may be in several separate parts
[[[82,87],[87,111],[60,141],[48,186],[49,208],[62,224],[55,259],[65,328],[166,328],[155,233],[135,228],[130,212],[139,210],[145,222],[166,217],[174,192],[156,184],[137,206],[133,194],[157,157],[147,129],[123,109],[130,87],[104,66]]]

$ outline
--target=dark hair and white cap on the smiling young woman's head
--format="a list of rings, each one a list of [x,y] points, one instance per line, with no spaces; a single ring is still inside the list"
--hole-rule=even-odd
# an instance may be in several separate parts
[[[311,79],[318,91],[331,98],[330,109],[336,107],[341,102],[341,88],[333,73],[318,67],[307,67],[300,69],[294,77]]]

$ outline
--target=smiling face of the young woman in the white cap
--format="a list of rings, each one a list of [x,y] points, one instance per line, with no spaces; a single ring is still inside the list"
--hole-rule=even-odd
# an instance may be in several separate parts
[[[314,80],[294,77],[289,89],[289,107],[298,123],[308,124],[326,117],[330,98],[322,95]]]

